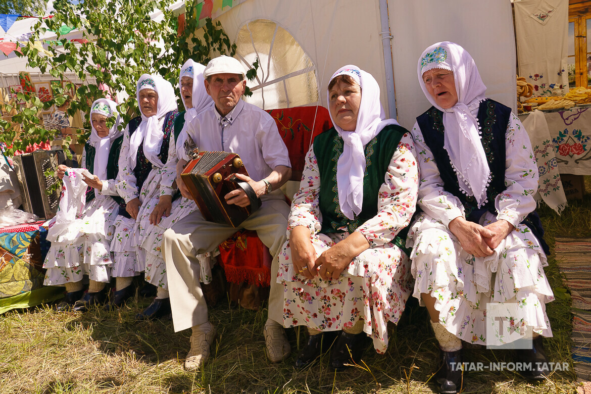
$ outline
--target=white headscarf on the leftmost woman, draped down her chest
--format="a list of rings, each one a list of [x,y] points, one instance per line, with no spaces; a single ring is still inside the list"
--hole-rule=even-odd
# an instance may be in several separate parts
[[[107,118],[115,118],[115,124],[109,129],[109,135],[106,137],[100,138],[96,132],[95,125],[92,123],[93,113],[104,115]],[[107,179],[107,162],[109,160],[111,143],[115,138],[123,134],[123,131],[118,128],[119,123],[121,123],[121,118],[119,117],[119,112],[117,112],[117,103],[108,99],[98,99],[92,103],[92,107],[90,107],[90,128],[92,130],[90,131],[88,141],[95,143],[96,146],[93,172],[100,180]]]

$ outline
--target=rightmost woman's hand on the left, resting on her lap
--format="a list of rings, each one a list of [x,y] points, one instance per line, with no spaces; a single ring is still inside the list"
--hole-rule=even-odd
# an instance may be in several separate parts
[[[488,240],[496,236],[491,229],[480,226],[478,223],[470,222],[459,216],[449,222],[449,230],[459,240],[462,249],[476,257],[492,255],[493,248],[489,246]]]

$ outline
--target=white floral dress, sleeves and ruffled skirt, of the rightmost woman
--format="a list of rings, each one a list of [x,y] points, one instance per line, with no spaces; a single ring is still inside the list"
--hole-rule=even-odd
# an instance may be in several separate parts
[[[475,115],[476,116],[476,115]],[[408,233],[415,278],[414,297],[421,305],[421,293],[436,299],[439,321],[447,331],[470,343],[486,344],[486,304],[517,304],[511,330],[533,330],[552,336],[545,304],[554,299],[544,274],[546,256],[540,242],[520,222],[535,209],[534,193],[538,172],[527,132],[514,114],[506,130],[504,193],[495,199],[498,214],[485,213],[486,226],[505,219],[515,226],[492,256],[475,258],[466,253],[447,226],[456,217],[465,217],[457,197],[443,189],[439,170],[415,123],[412,130],[417,149],[421,180],[418,215]],[[506,332],[499,341],[510,341]]]

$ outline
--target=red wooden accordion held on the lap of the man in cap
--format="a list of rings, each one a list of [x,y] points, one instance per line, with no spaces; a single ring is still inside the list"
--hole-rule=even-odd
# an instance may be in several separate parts
[[[235,174],[248,176],[241,158],[229,152],[195,152],[181,172],[181,178],[197,203],[203,217],[209,222],[226,223],[238,227],[252,212],[261,206],[252,187],[239,180]],[[239,207],[226,203],[224,196],[242,188],[251,204]]]

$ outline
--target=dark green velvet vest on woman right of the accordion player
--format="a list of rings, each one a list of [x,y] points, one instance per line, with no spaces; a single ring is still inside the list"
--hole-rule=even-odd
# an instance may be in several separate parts
[[[337,193],[337,161],[343,153],[343,139],[335,128],[314,138],[314,155],[320,172],[319,208],[322,213],[321,233],[352,233],[367,220],[378,214],[378,193],[384,183],[392,155],[407,130],[388,125],[365,145],[365,174],[363,175],[363,203],[361,212],[353,220],[340,210]]]

